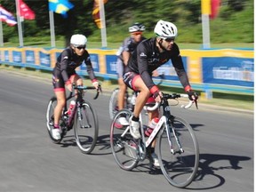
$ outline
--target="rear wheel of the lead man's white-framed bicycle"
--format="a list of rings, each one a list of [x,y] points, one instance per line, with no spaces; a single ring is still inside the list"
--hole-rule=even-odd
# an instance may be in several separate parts
[[[118,119],[120,116],[125,116],[127,121],[129,121],[132,112],[124,108],[116,113],[110,127],[110,147],[116,164],[120,168],[130,171],[139,163],[137,147],[129,131],[121,138],[121,134],[127,128],[129,129],[129,126],[119,124]]]

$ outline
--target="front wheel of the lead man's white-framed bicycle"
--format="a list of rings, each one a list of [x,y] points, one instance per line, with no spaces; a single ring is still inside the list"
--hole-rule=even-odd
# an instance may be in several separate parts
[[[161,130],[157,139],[160,167],[172,186],[185,188],[194,180],[198,169],[199,147],[196,135],[191,126],[180,117],[173,117],[173,124],[168,129],[172,147],[169,145],[165,129]],[[174,154],[170,148],[173,148]]]

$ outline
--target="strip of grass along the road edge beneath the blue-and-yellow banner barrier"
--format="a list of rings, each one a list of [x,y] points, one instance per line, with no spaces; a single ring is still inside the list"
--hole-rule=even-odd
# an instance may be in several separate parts
[[[44,80],[49,84],[52,84],[52,72],[50,71],[37,71],[34,68],[20,68],[20,67],[12,67],[8,65],[1,65],[0,69],[8,72],[12,72],[19,76],[33,76],[33,78],[40,78],[40,80]],[[85,79],[88,79],[86,77]],[[104,92],[109,92],[114,90],[118,85],[116,84],[116,80],[104,81],[99,77],[100,82],[102,83],[102,88]],[[90,81],[84,81],[84,84],[89,85]],[[170,92],[170,87],[161,87],[163,92]],[[180,92],[184,91],[180,88],[172,88],[172,92]],[[198,91],[199,92],[199,91]],[[199,92],[202,93],[202,92]],[[200,108],[200,103],[207,104],[215,107],[226,107],[226,108],[238,108],[244,110],[253,111],[254,107],[254,98],[253,95],[240,95],[240,94],[228,94],[221,92],[212,92],[213,98],[212,100],[207,100],[204,97],[200,97],[198,106]],[[221,110],[221,109],[220,109]]]

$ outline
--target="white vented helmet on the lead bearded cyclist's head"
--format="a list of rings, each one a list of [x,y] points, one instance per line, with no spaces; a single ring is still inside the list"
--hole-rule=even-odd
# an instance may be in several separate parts
[[[156,36],[163,39],[175,38],[178,35],[178,29],[176,26],[172,22],[167,22],[164,20],[158,20],[154,32]]]

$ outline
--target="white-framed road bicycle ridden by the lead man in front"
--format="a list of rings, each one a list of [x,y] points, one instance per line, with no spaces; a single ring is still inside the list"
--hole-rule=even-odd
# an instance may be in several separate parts
[[[179,103],[178,99],[181,97],[187,98],[188,95],[163,93],[161,103],[156,103],[153,107],[145,106],[147,110],[161,109],[162,115],[149,137],[144,135],[147,125],[143,124],[140,118],[141,138],[139,140],[132,138],[129,125],[120,127],[118,124],[120,116],[125,116],[129,121],[132,112],[124,108],[116,113],[110,127],[110,146],[116,164],[120,168],[130,171],[145,159],[149,160],[150,168],[152,168],[153,160],[150,157],[149,148],[152,141],[157,138],[156,153],[166,180],[177,188],[185,188],[194,180],[199,162],[196,135],[184,119],[172,116],[168,102],[168,100],[177,100]],[[192,105],[193,101],[189,101],[187,105],[181,107],[190,108]]]

